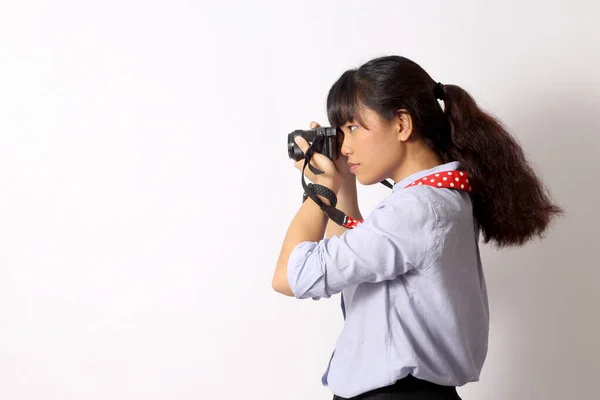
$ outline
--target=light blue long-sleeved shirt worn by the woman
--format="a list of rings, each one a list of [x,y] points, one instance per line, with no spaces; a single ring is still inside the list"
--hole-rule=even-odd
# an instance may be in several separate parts
[[[292,251],[295,297],[342,292],[344,327],[322,378],[334,394],[356,396],[408,374],[447,386],[479,380],[489,308],[470,195],[404,188],[458,168],[413,174],[356,228]]]

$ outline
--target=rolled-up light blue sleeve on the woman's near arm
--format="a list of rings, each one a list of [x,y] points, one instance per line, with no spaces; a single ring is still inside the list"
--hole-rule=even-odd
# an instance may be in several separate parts
[[[290,288],[296,298],[318,300],[351,285],[424,268],[438,225],[427,197],[408,189],[392,193],[354,229],[296,245],[288,260]]]

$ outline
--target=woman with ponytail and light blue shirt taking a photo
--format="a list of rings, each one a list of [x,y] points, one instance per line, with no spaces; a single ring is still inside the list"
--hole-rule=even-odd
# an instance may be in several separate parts
[[[520,246],[561,209],[497,120],[411,60],[346,71],[327,112],[341,157],[312,155],[323,173],[306,176],[357,224],[326,227],[316,200],[305,201],[273,288],[297,298],[342,293],[344,328],[322,378],[334,399],[459,399],[456,386],[479,379],[488,347],[480,233]],[[296,142],[306,153],[309,144]],[[391,194],[362,221],[356,180],[385,179]],[[332,196],[318,199],[329,205]]]

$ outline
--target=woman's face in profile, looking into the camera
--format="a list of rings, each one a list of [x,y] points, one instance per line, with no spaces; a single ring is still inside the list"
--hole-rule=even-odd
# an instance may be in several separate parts
[[[348,163],[358,164],[351,168],[356,179],[363,185],[372,185],[394,176],[403,159],[404,147],[396,121],[384,121],[371,109],[363,109],[361,117],[368,129],[357,121],[341,127],[344,132],[341,152],[348,157]]]

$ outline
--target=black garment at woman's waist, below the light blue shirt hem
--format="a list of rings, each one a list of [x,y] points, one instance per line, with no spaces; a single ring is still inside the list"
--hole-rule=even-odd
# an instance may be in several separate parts
[[[334,395],[333,400],[461,400],[455,386],[441,386],[412,375],[393,385],[346,399]]]

